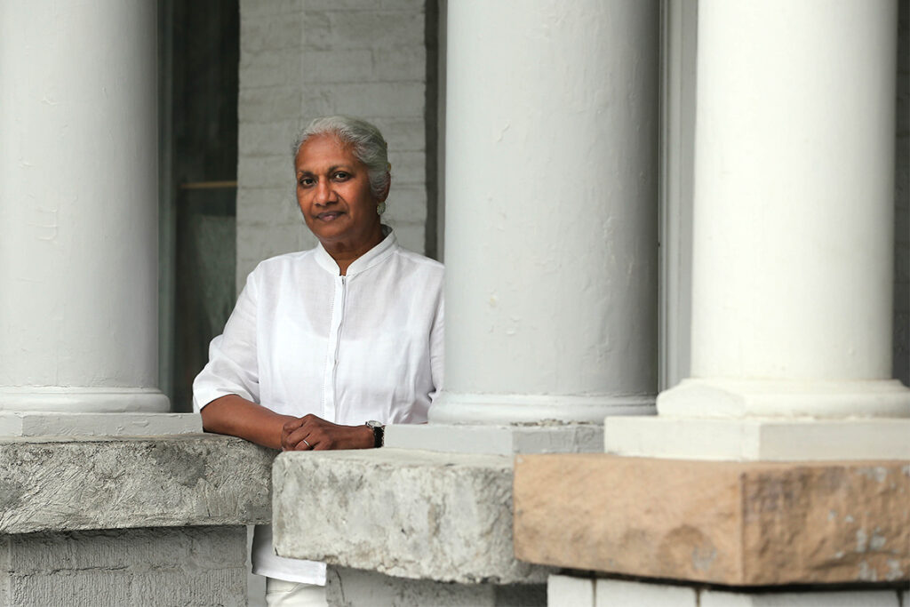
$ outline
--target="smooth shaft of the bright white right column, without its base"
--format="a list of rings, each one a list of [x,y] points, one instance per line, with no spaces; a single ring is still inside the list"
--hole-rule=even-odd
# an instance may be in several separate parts
[[[693,377],[891,378],[895,23],[699,5]]]

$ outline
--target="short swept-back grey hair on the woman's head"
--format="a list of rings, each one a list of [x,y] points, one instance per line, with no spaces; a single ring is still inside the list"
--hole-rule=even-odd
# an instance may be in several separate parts
[[[294,146],[291,148],[293,159],[296,161],[300,147],[307,143],[310,137],[318,135],[331,135],[340,142],[347,144],[354,152],[354,156],[367,167],[369,188],[373,196],[379,197],[389,187],[389,144],[382,137],[379,128],[369,124],[366,120],[352,118],[351,116],[322,116],[316,118],[300,131]]]

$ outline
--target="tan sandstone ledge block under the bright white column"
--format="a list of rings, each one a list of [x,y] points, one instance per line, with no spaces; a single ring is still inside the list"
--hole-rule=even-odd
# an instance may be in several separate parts
[[[910,580],[910,461],[521,455],[515,554],[724,585]]]

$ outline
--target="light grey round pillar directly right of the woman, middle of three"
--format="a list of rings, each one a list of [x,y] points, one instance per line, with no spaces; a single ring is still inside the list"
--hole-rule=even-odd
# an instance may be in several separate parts
[[[450,3],[431,421],[652,412],[658,40],[656,1]]]

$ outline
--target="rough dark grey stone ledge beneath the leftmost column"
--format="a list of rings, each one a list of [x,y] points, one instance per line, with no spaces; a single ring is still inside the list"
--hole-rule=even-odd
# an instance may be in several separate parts
[[[0,440],[0,533],[268,522],[275,453],[215,434]]]

